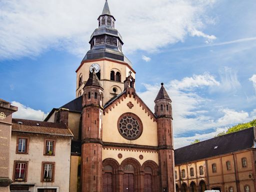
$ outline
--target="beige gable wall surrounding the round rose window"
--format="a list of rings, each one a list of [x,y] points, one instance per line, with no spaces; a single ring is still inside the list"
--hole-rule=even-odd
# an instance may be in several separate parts
[[[131,102],[134,106],[129,108],[127,103]],[[135,140],[128,140],[121,136],[117,129],[117,120],[123,112],[131,112],[136,114],[143,124],[143,131],[140,137]],[[127,96],[120,103],[112,107],[111,110],[103,115],[102,140],[104,142],[116,142],[126,144],[140,144],[157,146],[157,123],[148,116],[142,105],[139,106],[137,100]]]

